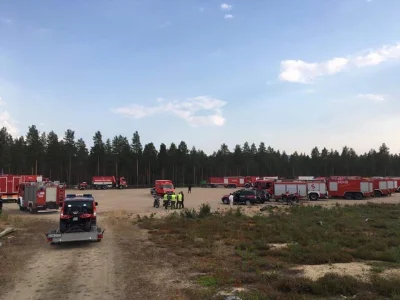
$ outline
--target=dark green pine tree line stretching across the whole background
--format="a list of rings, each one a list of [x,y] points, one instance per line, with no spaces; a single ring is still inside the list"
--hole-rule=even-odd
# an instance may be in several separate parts
[[[69,185],[91,182],[92,176],[124,176],[129,185],[151,186],[156,179],[171,179],[177,186],[192,184],[210,176],[398,176],[400,156],[383,143],[376,151],[357,154],[350,147],[341,151],[314,147],[311,152],[287,154],[261,142],[245,142],[232,150],[223,143],[211,155],[189,149],[181,141],[158,148],[141,143],[137,131],[128,139],[118,135],[104,138],[100,131],[88,149],[75,131],[68,129],[60,139],[54,131],[40,132],[29,126],[26,136],[13,138],[0,130],[0,172],[40,174]]]

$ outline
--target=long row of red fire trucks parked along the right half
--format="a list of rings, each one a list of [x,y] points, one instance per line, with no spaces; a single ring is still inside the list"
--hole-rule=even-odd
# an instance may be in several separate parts
[[[311,177],[299,176],[294,180],[279,177],[211,177],[203,187],[255,188],[264,190],[269,197],[279,199],[296,194],[310,200],[326,198],[363,199],[365,197],[388,196],[400,192],[400,178],[360,176]]]

